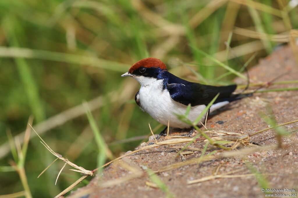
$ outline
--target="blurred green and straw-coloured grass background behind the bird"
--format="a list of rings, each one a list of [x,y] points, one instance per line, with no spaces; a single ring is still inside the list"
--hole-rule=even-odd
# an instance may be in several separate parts
[[[281,44],[295,43],[297,4],[297,0],[0,1],[0,194],[29,186],[32,197],[55,197],[80,177],[66,167],[55,185],[64,164],[57,161],[37,179],[55,156],[34,132],[26,158],[17,156],[9,139],[20,148],[31,115],[33,127],[55,152],[92,170],[99,148],[82,102],[88,102],[114,156],[133,150],[148,140],[148,122],[155,132],[162,130],[135,104],[138,82],[120,77],[133,63],[157,57],[179,77],[214,85],[232,83],[235,75],[202,51],[243,71],[244,63],[253,66]],[[27,181],[20,180],[15,166],[25,170]]]

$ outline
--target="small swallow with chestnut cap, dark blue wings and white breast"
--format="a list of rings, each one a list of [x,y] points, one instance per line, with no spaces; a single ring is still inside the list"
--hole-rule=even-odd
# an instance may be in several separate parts
[[[234,94],[236,84],[212,86],[181,79],[171,74],[167,66],[154,57],[134,63],[121,77],[132,77],[140,83],[141,87],[135,95],[135,101],[141,110],[163,125],[167,126],[169,122],[169,127],[173,128],[192,128],[190,124],[177,117],[186,113],[188,105],[191,108],[187,118],[193,122],[218,93],[219,96],[209,108],[210,113],[246,96]],[[201,122],[205,120],[206,114]],[[166,130],[167,127],[158,137],[165,135]],[[192,132],[193,129],[190,134]]]

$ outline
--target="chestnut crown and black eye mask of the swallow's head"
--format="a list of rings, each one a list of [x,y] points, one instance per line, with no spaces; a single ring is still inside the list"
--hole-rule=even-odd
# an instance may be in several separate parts
[[[167,66],[161,60],[150,57],[134,63],[129,68],[128,73],[137,76],[155,77],[160,70],[167,70]]]

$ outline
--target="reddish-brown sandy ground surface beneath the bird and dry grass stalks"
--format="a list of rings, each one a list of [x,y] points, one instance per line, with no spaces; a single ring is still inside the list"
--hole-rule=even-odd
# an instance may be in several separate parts
[[[264,82],[270,81],[272,78],[285,71],[290,71],[290,73],[283,76],[278,81],[298,79],[298,65],[289,47],[280,49],[267,58],[260,60],[259,65],[252,68],[249,74],[254,82]],[[236,81],[238,83],[241,82],[240,79]],[[272,85],[270,88],[284,87],[297,87],[297,84]],[[252,97],[233,102],[228,107],[217,112],[216,115],[210,116],[207,121],[207,128],[243,134],[249,134],[266,128],[268,126],[260,116],[258,116],[258,112],[265,110],[264,106],[267,102],[271,104],[278,123],[298,119],[297,93],[297,91],[257,93]],[[223,123],[220,122],[221,124],[218,124],[218,121],[223,121]],[[187,185],[188,180],[211,175],[219,165],[221,165],[221,167],[218,174],[240,168],[244,168],[243,171],[235,174],[249,174],[251,172],[249,172],[245,164],[246,160],[249,160],[260,172],[268,174],[265,178],[270,188],[294,188],[296,189],[294,193],[297,194],[298,123],[286,125],[285,128],[289,131],[296,130],[296,133],[283,138],[283,144],[285,146],[283,149],[262,150],[250,153],[244,157],[236,156],[233,158],[211,160],[161,172],[157,175],[176,197],[264,197],[264,193],[261,191],[261,187],[258,185],[255,177],[219,178]],[[178,134],[175,130],[172,131],[170,135]],[[159,141],[162,140],[164,140],[164,137]],[[147,146],[150,142],[154,141],[142,143],[138,148]],[[253,136],[251,142],[259,146],[277,144],[273,130],[268,130]],[[119,163],[113,163],[103,170],[101,180],[99,180],[98,177],[94,177],[89,185],[76,190],[69,197],[75,195],[81,198],[166,197],[166,194],[159,188],[146,185],[146,182],[150,181],[150,178],[144,169],[150,168],[152,170],[159,170],[166,165],[181,162],[180,157],[174,157],[179,151],[179,149],[174,148],[175,146],[177,145],[155,147],[120,160],[120,163],[124,161],[130,166],[144,172],[142,177],[134,178],[108,188],[99,187],[99,184],[107,184],[108,181],[132,175],[131,172],[119,166]],[[192,144],[191,147],[202,149],[204,143]],[[207,152],[207,154],[208,153],[209,152]],[[201,152],[196,151],[190,155],[184,155],[184,157],[186,160],[189,160],[198,158],[200,155]],[[84,192],[83,196],[80,195],[82,192]]]

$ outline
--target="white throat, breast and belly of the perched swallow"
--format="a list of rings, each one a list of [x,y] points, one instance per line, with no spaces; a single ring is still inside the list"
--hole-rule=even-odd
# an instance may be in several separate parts
[[[163,89],[163,79],[157,80],[149,77],[135,77],[141,84],[139,91],[140,106],[161,124],[167,125],[170,120],[170,127],[187,128],[190,125],[180,121],[177,114],[185,114],[187,106],[174,101],[167,89]],[[195,121],[198,115],[204,110],[205,105],[191,107],[188,119]],[[202,120],[205,119],[202,118]]]

